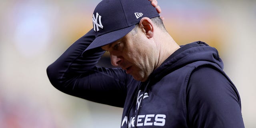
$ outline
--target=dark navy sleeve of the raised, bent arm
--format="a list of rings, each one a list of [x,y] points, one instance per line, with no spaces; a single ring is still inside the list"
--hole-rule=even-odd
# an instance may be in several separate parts
[[[82,52],[95,39],[93,30],[72,44],[47,68],[51,84],[58,90],[102,104],[123,107],[126,98],[126,74],[120,68],[96,66],[104,51]]]

